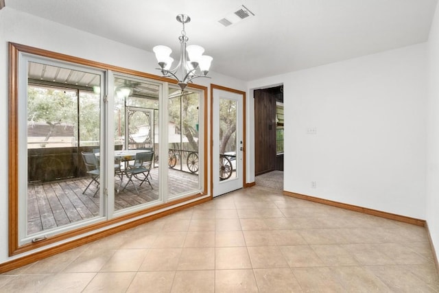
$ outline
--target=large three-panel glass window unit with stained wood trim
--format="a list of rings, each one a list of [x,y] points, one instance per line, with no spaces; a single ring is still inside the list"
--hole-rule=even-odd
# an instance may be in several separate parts
[[[206,88],[19,47],[11,255],[206,194]]]

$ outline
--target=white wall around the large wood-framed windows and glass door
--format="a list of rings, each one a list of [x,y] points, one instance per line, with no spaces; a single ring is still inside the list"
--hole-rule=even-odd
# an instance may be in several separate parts
[[[8,174],[8,42],[77,56],[108,65],[158,74],[154,54],[128,47],[121,43],[81,32],[71,27],[40,19],[12,8],[0,10],[0,174]],[[197,83],[211,83],[246,91],[246,83],[217,73],[212,79],[198,79]],[[210,109],[209,109],[210,113]],[[0,263],[8,257],[8,176],[0,176]]]

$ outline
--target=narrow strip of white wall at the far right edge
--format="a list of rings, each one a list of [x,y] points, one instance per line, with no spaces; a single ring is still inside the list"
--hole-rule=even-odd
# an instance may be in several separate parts
[[[439,255],[439,5],[430,29],[428,61],[427,223]]]

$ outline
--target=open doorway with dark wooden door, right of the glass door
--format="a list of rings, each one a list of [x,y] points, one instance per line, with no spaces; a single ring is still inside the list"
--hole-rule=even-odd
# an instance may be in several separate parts
[[[283,85],[254,90],[256,185],[283,190]]]

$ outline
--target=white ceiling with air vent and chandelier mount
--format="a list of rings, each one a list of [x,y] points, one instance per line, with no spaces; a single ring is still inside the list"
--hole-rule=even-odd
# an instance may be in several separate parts
[[[427,41],[437,0],[6,0],[7,8],[146,51],[189,45],[213,56],[211,71],[256,80]],[[245,5],[255,16],[224,27]]]

